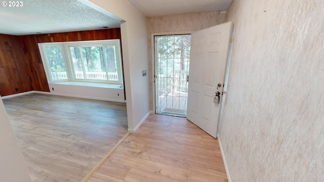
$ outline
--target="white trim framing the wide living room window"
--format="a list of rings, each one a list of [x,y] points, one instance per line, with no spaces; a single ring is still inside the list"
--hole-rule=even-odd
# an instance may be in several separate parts
[[[67,72],[68,79],[66,80],[52,80],[50,73],[50,66],[46,56],[46,45],[60,45],[62,48],[63,59],[65,63],[65,68]],[[74,78],[74,68],[71,62],[71,55],[68,51],[69,47],[89,47],[89,46],[105,46],[114,45],[115,47],[115,57],[116,57],[116,67],[118,81],[109,80],[83,80]],[[94,83],[109,83],[109,84],[120,84],[123,85],[123,68],[121,65],[121,50],[120,50],[120,40],[119,39],[109,39],[109,40],[89,40],[89,41],[69,41],[69,42],[45,42],[38,43],[39,52],[41,53],[46,77],[49,83],[56,82],[67,82],[67,81],[77,81],[77,82],[94,82]]]

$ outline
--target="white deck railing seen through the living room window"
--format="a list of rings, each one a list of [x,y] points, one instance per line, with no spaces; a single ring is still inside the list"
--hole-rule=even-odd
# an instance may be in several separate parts
[[[63,80],[68,79],[67,73],[64,71],[53,71],[51,72],[52,80]],[[118,74],[117,73],[110,73],[108,75],[106,72],[86,72],[87,79],[96,79],[96,80],[108,80],[110,81],[118,81]],[[84,79],[85,75],[83,71],[75,71],[75,78],[76,79]]]

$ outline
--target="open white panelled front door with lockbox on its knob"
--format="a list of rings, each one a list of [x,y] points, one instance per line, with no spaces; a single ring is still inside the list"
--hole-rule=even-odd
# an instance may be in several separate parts
[[[214,138],[222,103],[231,26],[232,22],[227,22],[191,34],[187,119]],[[220,95],[214,99],[216,92]]]

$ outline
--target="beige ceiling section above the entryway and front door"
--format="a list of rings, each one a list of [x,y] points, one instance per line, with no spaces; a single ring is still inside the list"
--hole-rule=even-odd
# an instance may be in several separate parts
[[[146,16],[181,15],[227,10],[233,0],[129,0]]]

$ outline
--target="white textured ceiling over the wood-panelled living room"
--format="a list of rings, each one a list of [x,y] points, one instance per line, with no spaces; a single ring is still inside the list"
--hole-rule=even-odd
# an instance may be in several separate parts
[[[0,6],[0,33],[26,35],[99,27],[120,27],[120,19],[88,1],[24,0],[22,7]],[[111,18],[113,17],[113,18]]]

